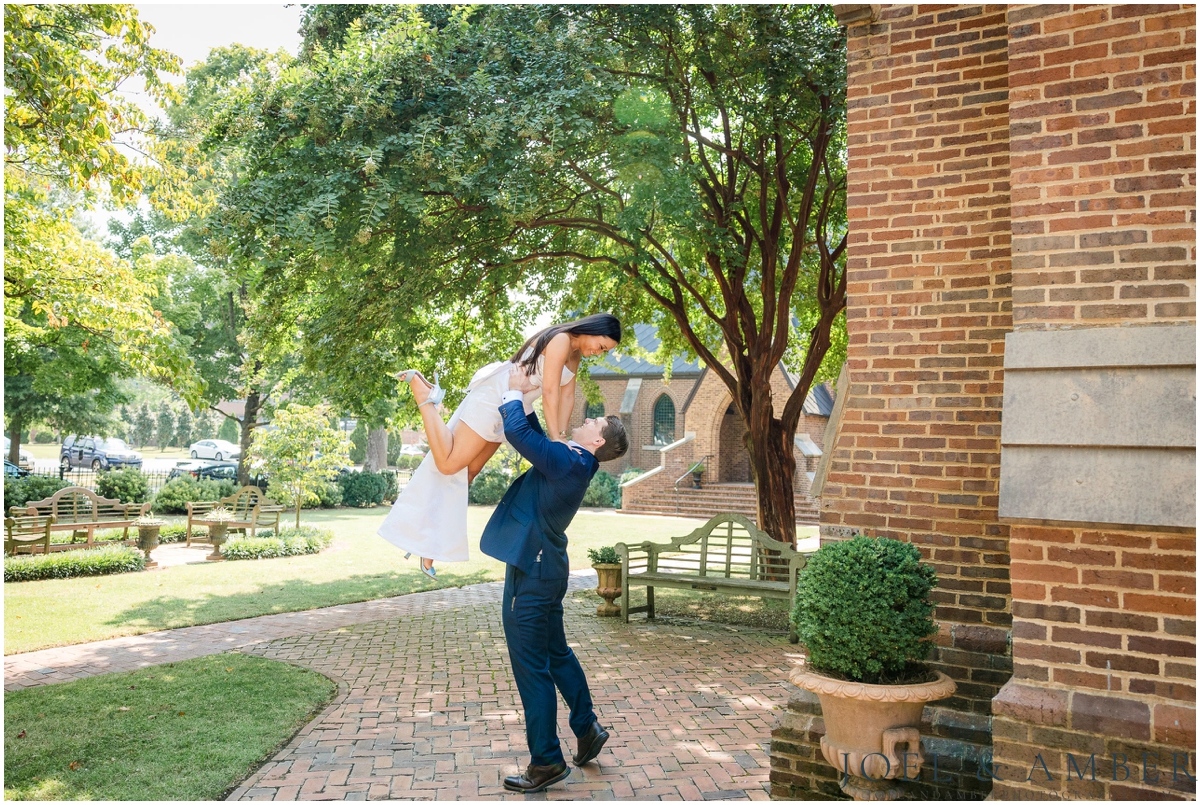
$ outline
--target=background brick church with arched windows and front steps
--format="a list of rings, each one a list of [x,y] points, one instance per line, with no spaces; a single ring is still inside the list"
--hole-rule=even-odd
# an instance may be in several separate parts
[[[659,347],[650,325],[634,325],[638,347]],[[604,396],[588,404],[576,395],[571,423],[588,416],[618,414],[629,433],[629,452],[600,468],[619,476],[626,469],[647,470],[625,483],[622,510],[712,517],[736,511],[755,516],[756,499],[750,457],[743,443],[746,427],[732,405],[724,383],[700,364],[674,359],[671,372],[632,355],[610,355],[589,374]],[[772,378],[774,394],[786,400],[794,388],[780,366]],[[797,521],[816,524],[816,503],[808,491],[821,456],[833,392],[828,385],[809,391],[796,438]],[[689,469],[702,462],[701,488]]]

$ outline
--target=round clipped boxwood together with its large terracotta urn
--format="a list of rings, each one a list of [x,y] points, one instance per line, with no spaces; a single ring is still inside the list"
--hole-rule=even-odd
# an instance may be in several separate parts
[[[822,546],[800,572],[792,624],[808,659],[791,681],[821,699],[821,752],[854,799],[900,797],[895,780],[916,779],[924,762],[922,710],[954,693],[922,663],[937,632],[936,583],[913,545],[865,536]]]

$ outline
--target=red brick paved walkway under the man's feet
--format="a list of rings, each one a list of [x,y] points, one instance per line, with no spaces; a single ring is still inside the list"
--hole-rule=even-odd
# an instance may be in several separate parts
[[[568,639],[613,737],[598,763],[529,797],[500,787],[528,753],[499,583],[18,655],[5,686],[232,649],[336,679],[332,704],[229,799],[768,799],[794,648],[756,630],[595,618],[594,585],[593,572],[571,578]],[[559,735],[572,753],[562,703]]]

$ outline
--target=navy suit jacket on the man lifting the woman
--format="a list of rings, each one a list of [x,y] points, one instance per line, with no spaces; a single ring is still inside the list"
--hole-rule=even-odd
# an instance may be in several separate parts
[[[600,462],[587,450],[546,438],[520,400],[500,405],[504,435],[533,465],[512,482],[487,521],[479,549],[541,578],[566,578],[566,527],[583,503]]]

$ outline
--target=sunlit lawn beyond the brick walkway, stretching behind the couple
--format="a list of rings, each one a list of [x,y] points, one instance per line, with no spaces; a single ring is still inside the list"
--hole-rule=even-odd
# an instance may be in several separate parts
[[[318,554],[5,584],[5,654],[498,581],[504,566],[478,549],[491,512],[490,506],[470,506],[472,560],[440,564],[437,582],[418,570],[416,557],[404,560],[376,536],[386,513],[377,507],[306,511],[305,523],[325,525],[336,535]],[[589,566],[590,547],[666,541],[700,523],[582,511],[569,531],[571,567]]]

